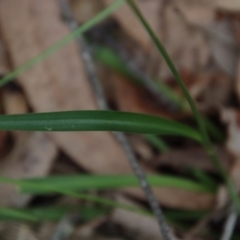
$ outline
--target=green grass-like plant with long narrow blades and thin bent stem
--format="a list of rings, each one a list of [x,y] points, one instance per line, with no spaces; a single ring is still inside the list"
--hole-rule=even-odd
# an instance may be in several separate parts
[[[157,135],[178,135],[182,137],[188,137],[202,144],[207,153],[209,154],[212,162],[217,167],[219,173],[225,180],[233,202],[240,210],[239,200],[236,195],[235,189],[225,172],[224,168],[217,159],[214,148],[209,139],[205,121],[197,110],[197,107],[191,98],[184,82],[182,81],[177,69],[172,63],[167,51],[161,44],[160,40],[156,37],[149,24],[144,19],[143,15],[137,8],[136,4],[132,0],[116,0],[111,6],[104,9],[101,13],[92,18],[89,22],[83,24],[77,30],[61,39],[58,43],[46,51],[39,54],[37,57],[31,59],[24,65],[20,66],[10,74],[3,77],[0,81],[0,86],[8,83],[24,71],[33,67],[40,61],[44,60],[51,54],[54,54],[58,49],[66,45],[69,41],[73,40],[80,34],[83,34],[91,27],[102,21],[104,18],[109,16],[114,10],[116,10],[121,4],[128,3],[132,8],[133,12],[139,18],[143,26],[146,28],[151,39],[156,44],[157,49],[164,57],[166,63],[171,69],[177,83],[181,87],[184,96],[186,97],[192,112],[196,118],[199,126],[199,130],[193,129],[184,124],[176,121],[167,120],[155,116],[136,114],[136,113],[124,113],[116,111],[69,111],[69,112],[52,112],[52,113],[31,113],[24,115],[4,115],[0,116],[0,130],[23,130],[23,131],[121,131],[141,134],[157,134]],[[124,69],[121,69],[124,71]],[[128,74],[128,73],[126,73]],[[178,99],[176,100],[178,102]],[[110,179],[110,181],[109,181]],[[195,182],[187,181],[184,179],[176,179],[174,177],[166,176],[150,176],[149,182],[155,186],[174,186],[187,190],[194,191],[214,191],[214,187],[207,187],[206,184],[197,184]],[[206,180],[206,179],[205,179]],[[93,186],[97,189],[109,189],[118,188],[123,186],[136,186],[136,180],[131,176],[68,176],[59,178],[45,178],[45,179],[32,179],[32,180],[13,180],[0,178],[1,182],[15,184],[19,186],[23,191],[28,193],[62,193],[75,197],[85,198],[96,202],[101,202],[109,206],[118,206],[127,208],[126,206],[120,206],[112,201],[101,199],[98,197],[88,196],[86,194],[80,194],[77,191],[91,189]],[[59,184],[61,183],[61,188]],[[63,188],[62,184],[65,183]],[[111,183],[109,185],[109,183]],[[213,186],[213,185],[211,185]],[[131,210],[131,209],[130,209]],[[24,212],[23,210],[11,210],[11,209],[0,209],[0,218],[4,216],[7,218],[16,219],[29,219],[36,220],[33,213]],[[165,229],[166,230],[166,229]],[[165,239],[170,239],[168,233],[164,232],[163,236]]]

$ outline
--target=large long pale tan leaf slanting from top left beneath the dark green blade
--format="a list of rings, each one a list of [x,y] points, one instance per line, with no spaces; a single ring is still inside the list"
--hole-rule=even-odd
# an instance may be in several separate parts
[[[17,21],[12,19],[13,15]],[[2,35],[15,67],[69,33],[55,1],[1,1],[0,20]],[[75,43],[22,74],[19,82],[37,112],[96,109]],[[109,133],[50,135],[74,161],[89,171],[130,172],[121,147]]]

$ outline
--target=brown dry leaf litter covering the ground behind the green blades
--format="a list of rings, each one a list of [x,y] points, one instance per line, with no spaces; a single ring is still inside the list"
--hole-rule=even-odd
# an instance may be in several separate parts
[[[69,1],[79,24],[91,19],[112,2],[112,0]],[[135,2],[168,50],[201,113],[211,119],[213,124],[226,135],[224,142],[215,140],[214,144],[217,146],[219,159],[234,180],[235,186],[239,188],[238,25],[240,19],[238,16],[240,8],[237,1],[136,0]],[[1,76],[69,33],[68,27],[61,19],[59,6],[54,1],[41,1],[41,3],[30,0],[2,1],[0,20]],[[101,30],[101,27],[109,22],[115,22],[116,25],[113,26],[118,26],[113,28],[115,32],[109,29],[105,32]],[[127,52],[128,57],[124,60],[127,60],[126,66],[129,66],[130,70],[131,64],[135,64],[138,69],[147,72],[152,77],[152,81],[166,84],[172,89],[173,94],[182,97],[163,59],[156,54],[151,39],[126,4],[102,24],[95,27],[93,32],[95,31],[100,37],[102,34],[106,41],[96,41],[90,35],[89,44],[92,52],[96,48],[107,47],[113,51],[118,50],[117,54],[120,54],[120,58],[125,56],[121,53]],[[109,40],[113,35],[117,36],[114,38],[116,46]],[[194,125],[192,114],[188,110],[179,110],[173,108],[171,104],[165,104],[164,93],[159,93],[162,96],[160,103],[156,95],[154,96],[153,92],[144,85],[140,86],[133,82],[133,79],[109,69],[98,61],[96,67],[105,87],[106,97],[114,110],[147,113]],[[11,92],[4,87],[0,92],[3,106],[1,113],[97,109],[81,55],[74,42],[29,69],[16,80],[17,82],[12,85],[18,91]],[[0,154],[3,155],[0,162],[1,176],[31,178],[51,175],[51,170],[56,169],[58,164],[55,160],[59,152],[66,155],[62,169],[58,169],[64,174],[75,173],[76,169],[78,172],[90,174],[131,173],[120,144],[110,133],[11,132],[1,133],[1,136],[3,136],[0,141],[3,146],[0,148]],[[216,205],[220,210],[228,207],[228,196],[226,191],[222,190],[224,187],[218,173],[195,142],[177,137],[164,137],[163,141],[170,148],[169,152],[164,153],[150,142],[142,139],[140,141],[139,136],[132,137],[135,138],[132,142],[133,149],[145,171],[177,175],[200,182],[210,179],[217,186],[216,191],[212,193],[195,193],[169,187],[154,188],[154,193],[164,207],[164,211],[182,210],[186,216],[196,211],[206,209],[210,211]],[[70,167],[64,167],[68,162]],[[72,168],[75,169],[71,170]],[[194,168],[200,169],[203,175],[197,175],[193,170],[192,172],[189,170]],[[220,194],[224,191],[225,193]],[[142,208],[145,206],[145,198],[140,189],[112,190],[109,193],[112,195],[117,193],[129,204],[139,205]],[[102,193],[96,191],[95,194]],[[121,202],[119,198],[115,200]],[[9,185],[0,185],[1,206],[31,207],[34,202],[41,205],[54,201],[50,196],[41,200],[39,197],[22,195]],[[99,224],[90,224],[88,231],[91,231],[92,235],[88,235],[86,239],[104,239],[102,235],[106,235],[106,232],[110,234],[108,239],[115,237],[127,239],[128,234],[132,239],[144,239],[150,238],[149,234],[155,232],[156,239],[159,239],[157,231],[152,229],[156,224],[155,220],[152,218],[145,220],[144,216],[134,214],[122,209],[113,210],[112,217],[105,215],[104,223],[100,221]],[[227,213],[217,220],[210,220],[205,225],[208,232],[199,231],[194,239],[217,239],[214,236],[213,223],[218,228],[222,228],[226,216]],[[146,227],[146,221],[152,222],[149,225],[151,228]],[[201,221],[201,217],[198,217],[197,221]],[[183,239],[185,233],[192,227],[184,220],[176,221],[171,226],[179,239]],[[4,228],[5,230],[7,228],[6,224],[1,227],[0,234],[4,232]],[[41,227],[41,224],[38,227]],[[34,228],[20,225],[19,229],[18,236],[41,240],[36,236]],[[120,229],[126,234],[120,236]],[[51,234],[53,231],[49,233],[48,238]],[[4,237],[2,239],[5,239]],[[16,236],[12,239],[16,239]],[[155,238],[151,237],[151,239]]]

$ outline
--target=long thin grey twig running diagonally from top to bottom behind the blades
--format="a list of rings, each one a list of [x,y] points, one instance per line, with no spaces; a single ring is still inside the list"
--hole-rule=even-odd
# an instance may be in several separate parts
[[[69,8],[68,3],[65,0],[58,0],[58,2],[61,6],[64,19],[67,21],[67,23],[71,27],[71,30],[74,31],[77,28],[78,24],[72,15],[72,12]],[[91,81],[93,90],[97,96],[99,108],[102,110],[106,110],[106,109],[108,109],[108,105],[105,100],[105,96],[104,96],[102,87],[100,85],[100,81],[98,80],[97,72],[94,67],[92,56],[88,50],[87,44],[82,37],[79,37],[77,39],[77,42],[81,49],[81,53],[83,56],[83,60],[85,63],[85,67],[86,67],[86,70],[88,73],[89,80]],[[159,227],[162,232],[163,239],[171,240],[172,237],[170,236],[171,234],[169,231],[169,226],[168,226],[167,222],[165,221],[165,218],[164,218],[164,215],[160,208],[160,205],[152,192],[152,189],[146,179],[146,175],[143,172],[143,170],[141,169],[141,167],[137,161],[137,158],[134,155],[134,152],[133,152],[126,136],[123,133],[119,133],[119,132],[115,133],[115,136],[117,137],[118,141],[121,143],[121,145],[125,151],[125,154],[129,160],[129,163],[132,167],[132,170],[135,173],[136,177],[138,178],[139,183],[140,183],[140,185],[146,195],[146,198],[149,202],[149,205],[157,218]]]

